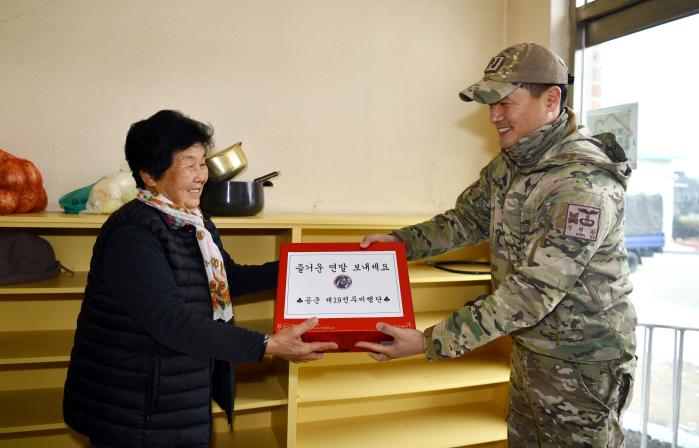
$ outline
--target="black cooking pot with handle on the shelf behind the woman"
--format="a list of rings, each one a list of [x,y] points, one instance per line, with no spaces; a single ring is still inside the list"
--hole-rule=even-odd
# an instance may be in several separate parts
[[[264,187],[279,173],[270,173],[251,182],[210,180],[204,185],[201,209],[212,216],[253,216],[265,206]]]

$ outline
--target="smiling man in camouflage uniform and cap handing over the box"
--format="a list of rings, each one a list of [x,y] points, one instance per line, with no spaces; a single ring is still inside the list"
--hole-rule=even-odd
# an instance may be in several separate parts
[[[623,446],[633,384],[623,225],[631,168],[610,135],[590,137],[563,106],[569,81],[563,60],[537,44],[492,58],[460,97],[489,105],[500,153],[453,209],[362,241],[402,241],[410,259],[490,242],[492,294],[422,333],[380,323],[394,343],[357,346],[379,361],[439,360],[511,335],[514,447]]]

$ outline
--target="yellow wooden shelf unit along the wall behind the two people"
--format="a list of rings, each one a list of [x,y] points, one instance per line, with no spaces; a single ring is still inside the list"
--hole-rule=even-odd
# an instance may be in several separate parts
[[[62,387],[92,245],[106,216],[46,212],[0,217],[0,231],[47,239],[63,265],[57,278],[0,286],[0,448],[87,446],[63,423]],[[278,215],[217,217],[231,256],[255,264],[278,259],[283,242],[358,242],[368,233],[419,222],[415,216]],[[484,247],[434,260],[485,260]],[[490,291],[490,276],[436,270],[411,262],[416,324],[423,329]],[[269,333],[274,292],[235,300],[236,324]],[[234,429],[214,403],[211,446],[500,447],[509,376],[506,340],[463,358],[414,356],[377,363],[366,353],[331,353],[289,364],[265,359],[237,366]]]

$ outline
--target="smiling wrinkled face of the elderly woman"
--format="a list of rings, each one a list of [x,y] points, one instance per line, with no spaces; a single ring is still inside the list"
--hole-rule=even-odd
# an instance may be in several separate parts
[[[206,149],[200,143],[172,155],[172,164],[160,179],[144,177],[146,186],[162,194],[175,205],[194,211],[199,208],[199,199],[209,170],[206,166]]]

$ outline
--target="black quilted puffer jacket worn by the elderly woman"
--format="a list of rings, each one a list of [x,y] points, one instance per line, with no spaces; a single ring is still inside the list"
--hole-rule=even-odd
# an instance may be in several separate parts
[[[221,249],[231,296],[276,286],[276,262],[236,265],[214,225],[205,224]],[[94,246],[64,419],[98,444],[207,446],[211,397],[230,418],[230,363],[261,359],[263,338],[213,321],[193,229],[176,229],[134,200],[110,216]]]

